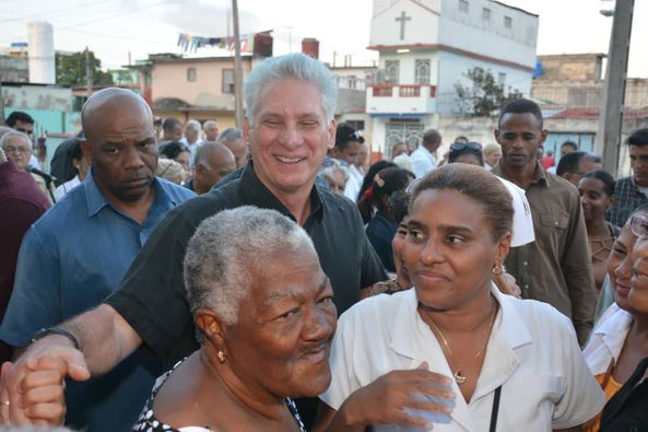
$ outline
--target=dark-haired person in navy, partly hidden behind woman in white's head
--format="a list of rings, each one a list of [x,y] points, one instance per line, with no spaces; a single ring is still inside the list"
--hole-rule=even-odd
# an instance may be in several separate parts
[[[376,213],[367,223],[367,237],[378,254],[382,267],[391,273],[396,272],[391,242],[398,230],[391,196],[397,191],[404,191],[413,179],[414,173],[409,171],[396,167],[385,168],[374,176],[374,183],[365,195],[376,207]]]

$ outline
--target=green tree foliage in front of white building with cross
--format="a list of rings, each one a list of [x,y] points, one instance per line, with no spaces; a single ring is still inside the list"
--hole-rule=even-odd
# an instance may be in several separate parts
[[[459,112],[473,117],[491,117],[512,100],[523,97],[516,89],[498,85],[490,70],[473,68],[466,73],[472,85],[455,84]]]

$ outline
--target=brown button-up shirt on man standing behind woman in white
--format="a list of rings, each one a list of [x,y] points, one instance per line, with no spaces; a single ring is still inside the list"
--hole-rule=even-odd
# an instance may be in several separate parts
[[[499,165],[492,172],[509,179]],[[538,164],[526,191],[535,242],[511,248],[506,269],[522,297],[546,302],[568,316],[582,346],[592,328],[597,291],[578,190]]]

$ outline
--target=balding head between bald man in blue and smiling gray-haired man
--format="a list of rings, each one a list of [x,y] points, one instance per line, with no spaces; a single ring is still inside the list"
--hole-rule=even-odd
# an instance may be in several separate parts
[[[187,187],[198,195],[205,194],[234,170],[236,161],[229,149],[220,142],[205,142],[196,152],[193,177]]]

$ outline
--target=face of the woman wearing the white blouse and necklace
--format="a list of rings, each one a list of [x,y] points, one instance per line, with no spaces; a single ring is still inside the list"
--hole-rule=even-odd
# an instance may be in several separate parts
[[[490,290],[493,265],[507,247],[493,241],[482,206],[457,190],[428,189],[411,210],[403,256],[419,300],[453,310]]]

